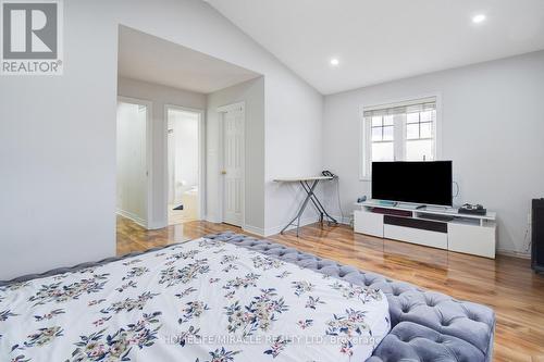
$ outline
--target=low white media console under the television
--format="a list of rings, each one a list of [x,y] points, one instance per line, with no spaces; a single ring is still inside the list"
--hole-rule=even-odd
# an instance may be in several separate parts
[[[409,203],[356,203],[355,233],[401,240],[428,247],[495,258],[496,214],[459,214],[457,209]],[[376,210],[378,208],[378,210]],[[380,212],[376,212],[380,211]]]

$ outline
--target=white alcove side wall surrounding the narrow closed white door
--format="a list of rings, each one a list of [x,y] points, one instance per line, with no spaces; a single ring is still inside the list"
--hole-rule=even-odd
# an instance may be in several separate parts
[[[221,222],[218,108],[245,102],[245,227],[259,234],[264,230],[264,83],[259,77],[208,95],[206,126],[207,220]]]

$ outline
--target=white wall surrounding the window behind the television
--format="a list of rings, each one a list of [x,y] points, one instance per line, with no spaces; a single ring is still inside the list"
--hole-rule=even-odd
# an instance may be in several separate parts
[[[391,82],[325,97],[324,167],[339,175],[344,212],[370,195],[359,180],[359,108],[442,96],[442,154],[460,185],[455,203],[498,213],[498,249],[526,252],[531,198],[544,196],[544,52]],[[337,211],[336,191],[327,189]]]

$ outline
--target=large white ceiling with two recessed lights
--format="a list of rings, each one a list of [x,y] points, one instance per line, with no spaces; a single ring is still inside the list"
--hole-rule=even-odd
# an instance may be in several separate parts
[[[324,95],[544,49],[544,0],[205,1]]]

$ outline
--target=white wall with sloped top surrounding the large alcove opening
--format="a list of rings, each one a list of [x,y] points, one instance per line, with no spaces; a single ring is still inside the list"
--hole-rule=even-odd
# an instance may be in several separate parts
[[[64,75],[0,83],[0,278],[115,252],[120,23],[263,74],[267,182],[281,171],[320,168],[313,145],[321,141],[322,97],[206,2],[64,1]],[[165,164],[153,161],[164,174]],[[160,198],[154,217],[163,212]],[[288,219],[288,200],[287,191],[267,190],[268,224]]]

